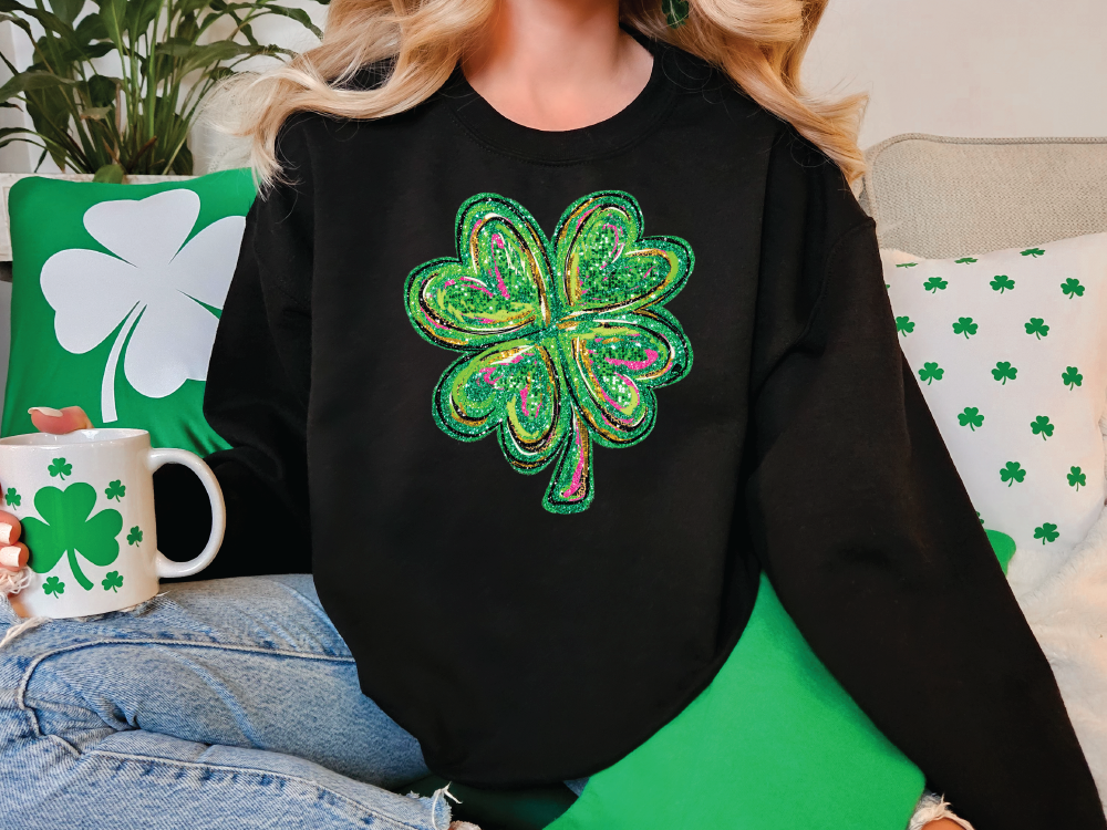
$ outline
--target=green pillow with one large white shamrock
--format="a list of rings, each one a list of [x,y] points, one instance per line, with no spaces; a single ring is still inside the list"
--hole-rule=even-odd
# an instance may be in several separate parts
[[[248,169],[157,185],[25,178],[9,198],[11,359],[3,434],[29,406],[207,454],[208,359],[254,203]]]

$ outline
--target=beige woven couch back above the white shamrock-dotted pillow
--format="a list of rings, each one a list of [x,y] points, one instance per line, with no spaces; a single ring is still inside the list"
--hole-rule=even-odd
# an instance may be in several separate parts
[[[882,248],[944,259],[1107,231],[1107,138],[910,133],[866,158]]]

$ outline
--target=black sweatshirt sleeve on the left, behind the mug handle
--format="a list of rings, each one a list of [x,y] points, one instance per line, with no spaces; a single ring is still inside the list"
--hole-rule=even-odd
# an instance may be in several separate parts
[[[302,131],[279,141],[284,176],[259,194],[211,351],[204,414],[230,444],[205,460],[227,505],[219,556],[197,579],[310,572],[307,407],[311,364],[312,187]],[[155,476],[159,546],[200,550],[207,497],[187,470]]]

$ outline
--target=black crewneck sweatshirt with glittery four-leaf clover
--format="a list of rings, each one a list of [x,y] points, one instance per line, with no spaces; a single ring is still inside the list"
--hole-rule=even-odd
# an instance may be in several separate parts
[[[680,713],[764,569],[977,830],[1107,827],[871,220],[790,126],[651,49],[581,129],[514,124],[459,72],[401,115],[286,125],[208,374],[234,448],[205,577],[311,570],[430,767],[503,787]],[[159,477],[162,538],[195,526],[186,481]]]

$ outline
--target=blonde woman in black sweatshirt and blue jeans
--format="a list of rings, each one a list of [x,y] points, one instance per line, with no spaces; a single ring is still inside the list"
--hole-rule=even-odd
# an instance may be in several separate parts
[[[448,790],[389,791],[428,768],[644,827],[650,787],[597,817],[778,594],[921,768],[899,827],[922,775],[963,818],[923,799],[912,827],[1105,827],[903,365],[847,186],[858,102],[799,92],[824,6],[335,0],[321,46],[234,90],[266,188],[205,402],[216,568],[310,568],[321,605],[304,577],[205,582],[13,640],[11,826],[442,828]],[[206,533],[189,487],[159,479],[162,538]],[[659,792],[746,747],[710,726]],[[817,800],[744,769],[782,816]],[[855,816],[868,778],[830,815],[891,830]],[[664,826],[804,826],[716,792],[725,821]]]

